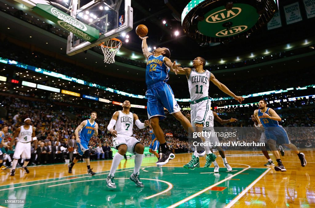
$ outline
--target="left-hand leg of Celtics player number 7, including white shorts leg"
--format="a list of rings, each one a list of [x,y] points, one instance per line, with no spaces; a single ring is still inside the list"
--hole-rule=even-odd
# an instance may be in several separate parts
[[[122,136],[116,137],[113,139],[114,148],[118,150],[112,160],[111,170],[106,178],[106,184],[109,188],[116,188],[116,184],[114,183],[115,172],[118,168],[120,161],[123,159],[124,154],[127,152],[127,143],[126,139]]]

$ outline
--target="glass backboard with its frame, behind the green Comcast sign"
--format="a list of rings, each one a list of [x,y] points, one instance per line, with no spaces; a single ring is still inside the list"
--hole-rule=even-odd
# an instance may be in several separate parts
[[[83,52],[99,46],[111,38],[132,30],[133,10],[131,0],[72,0],[71,16],[100,31],[98,40],[90,43],[70,33],[67,41],[67,55]]]

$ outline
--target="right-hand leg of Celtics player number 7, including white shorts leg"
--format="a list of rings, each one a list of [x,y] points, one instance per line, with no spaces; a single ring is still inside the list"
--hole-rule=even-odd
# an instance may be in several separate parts
[[[130,136],[131,137],[131,136]],[[135,169],[134,172],[130,176],[130,180],[135,182],[135,184],[139,187],[144,187],[143,183],[140,181],[140,166],[143,159],[144,146],[134,137],[129,138],[127,141],[128,144],[128,152],[133,152],[135,154]]]

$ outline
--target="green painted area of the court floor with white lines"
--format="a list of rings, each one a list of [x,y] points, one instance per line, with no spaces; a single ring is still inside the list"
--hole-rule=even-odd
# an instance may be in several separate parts
[[[142,167],[139,188],[129,180],[133,168],[116,173],[117,189],[106,187],[108,171],[94,176],[74,175],[0,186],[1,199],[26,199],[26,204],[10,207],[216,207],[228,205],[257,182],[268,168]],[[254,184],[254,183],[253,183]],[[252,184],[252,185],[253,185]],[[250,187],[249,187],[250,188]],[[210,205],[209,205],[210,204]],[[231,205],[232,203],[230,203]],[[8,205],[1,202],[2,206]]]

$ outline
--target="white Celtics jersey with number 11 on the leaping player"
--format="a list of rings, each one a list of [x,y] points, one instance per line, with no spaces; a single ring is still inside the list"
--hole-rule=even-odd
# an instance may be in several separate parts
[[[192,101],[209,97],[209,82],[210,82],[210,72],[206,70],[203,73],[196,72],[192,69],[188,78],[188,88],[190,93],[190,99]]]

